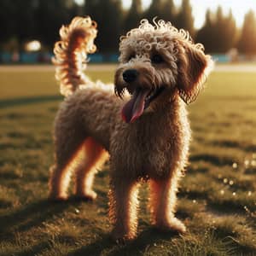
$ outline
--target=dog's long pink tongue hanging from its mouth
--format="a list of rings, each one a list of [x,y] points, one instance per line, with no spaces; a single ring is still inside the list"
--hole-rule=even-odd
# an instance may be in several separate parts
[[[145,98],[149,90],[136,90],[129,102],[122,109],[122,118],[126,123],[132,123],[143,114]]]

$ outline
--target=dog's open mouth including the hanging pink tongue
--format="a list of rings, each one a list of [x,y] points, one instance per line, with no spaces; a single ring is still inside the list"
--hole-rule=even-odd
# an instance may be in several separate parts
[[[122,109],[122,118],[126,123],[132,123],[139,118],[143,111],[148,108],[150,102],[152,102],[165,87],[160,87],[155,90],[137,88],[131,95],[131,100],[125,103]]]

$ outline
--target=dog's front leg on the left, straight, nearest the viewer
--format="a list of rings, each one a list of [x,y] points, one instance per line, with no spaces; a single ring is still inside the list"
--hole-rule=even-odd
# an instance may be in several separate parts
[[[125,177],[111,179],[109,217],[112,236],[117,242],[133,239],[137,234],[138,183]]]

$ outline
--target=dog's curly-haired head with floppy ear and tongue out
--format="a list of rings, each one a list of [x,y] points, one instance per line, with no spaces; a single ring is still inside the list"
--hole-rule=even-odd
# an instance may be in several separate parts
[[[119,67],[115,73],[115,93],[125,90],[131,100],[125,103],[122,117],[130,123],[144,111],[153,110],[173,96],[194,102],[212,67],[201,44],[193,44],[189,33],[159,20],[148,20],[121,38]]]

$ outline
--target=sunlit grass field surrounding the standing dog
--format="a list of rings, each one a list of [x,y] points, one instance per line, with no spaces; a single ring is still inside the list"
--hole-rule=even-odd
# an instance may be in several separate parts
[[[113,72],[91,72],[110,82]],[[52,124],[61,102],[54,73],[0,73],[0,255],[256,255],[256,74],[212,73],[191,106],[190,164],[177,216],[189,231],[150,226],[147,186],[139,233],[109,237],[108,165],[96,202],[47,201]]]

